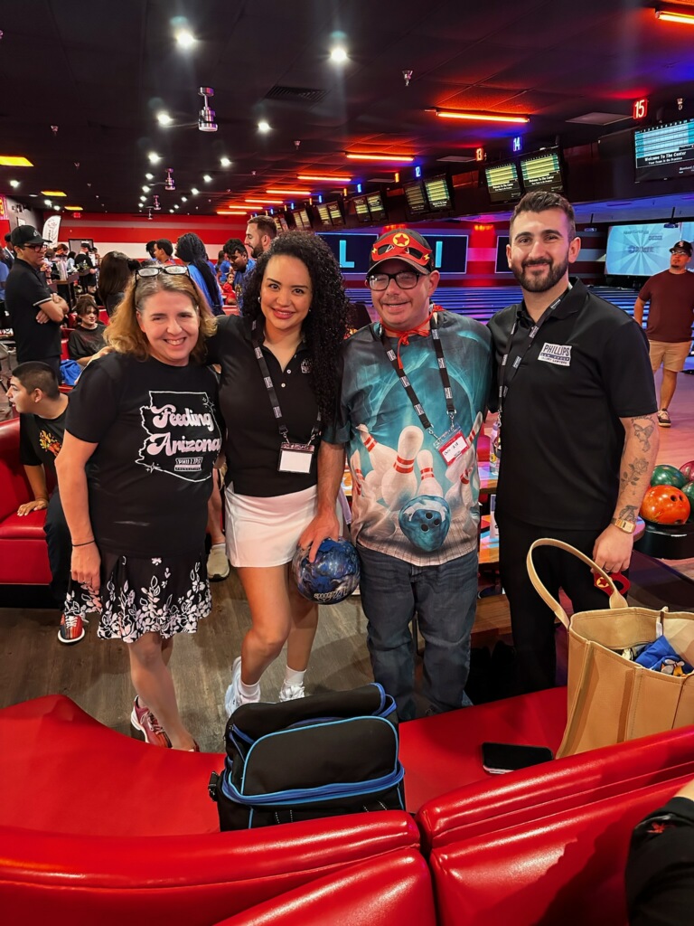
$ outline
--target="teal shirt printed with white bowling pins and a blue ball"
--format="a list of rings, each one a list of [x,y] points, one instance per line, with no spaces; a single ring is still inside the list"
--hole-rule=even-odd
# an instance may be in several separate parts
[[[356,543],[416,566],[434,566],[477,549],[477,433],[490,388],[490,334],[475,319],[436,313],[455,407],[454,430],[433,339],[410,335],[403,370],[431,423],[419,419],[380,340],[380,323],[345,342],[341,399],[324,440],[344,444],[352,471]],[[395,347],[396,338],[390,338]],[[463,440],[447,465],[437,440]]]

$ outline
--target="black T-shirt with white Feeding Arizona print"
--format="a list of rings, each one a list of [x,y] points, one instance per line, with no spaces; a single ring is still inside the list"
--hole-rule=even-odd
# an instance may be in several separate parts
[[[100,547],[144,557],[201,548],[218,422],[217,378],[206,367],[109,354],[84,369],[66,428],[98,444],[88,484]]]

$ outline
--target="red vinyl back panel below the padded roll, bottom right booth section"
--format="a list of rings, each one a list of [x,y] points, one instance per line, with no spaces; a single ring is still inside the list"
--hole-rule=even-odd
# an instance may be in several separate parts
[[[434,849],[440,926],[626,926],[631,832],[691,772]]]

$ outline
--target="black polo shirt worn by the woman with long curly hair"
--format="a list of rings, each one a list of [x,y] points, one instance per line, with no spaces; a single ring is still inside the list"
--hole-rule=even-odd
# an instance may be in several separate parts
[[[308,348],[301,344],[284,371],[266,347],[263,354],[289,439],[305,444],[318,413]],[[278,422],[254,354],[250,320],[233,315],[220,318],[217,334],[207,342],[207,361],[222,368],[219,404],[227,425],[227,481],[233,483],[234,492],[268,497],[316,485],[317,442],[310,473],[278,472]]]

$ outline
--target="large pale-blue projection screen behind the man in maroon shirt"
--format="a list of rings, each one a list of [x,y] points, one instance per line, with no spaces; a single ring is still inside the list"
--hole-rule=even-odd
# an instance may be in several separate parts
[[[641,222],[611,225],[607,232],[605,273],[613,276],[651,277],[670,266],[670,248],[678,241],[694,241],[694,222]]]

